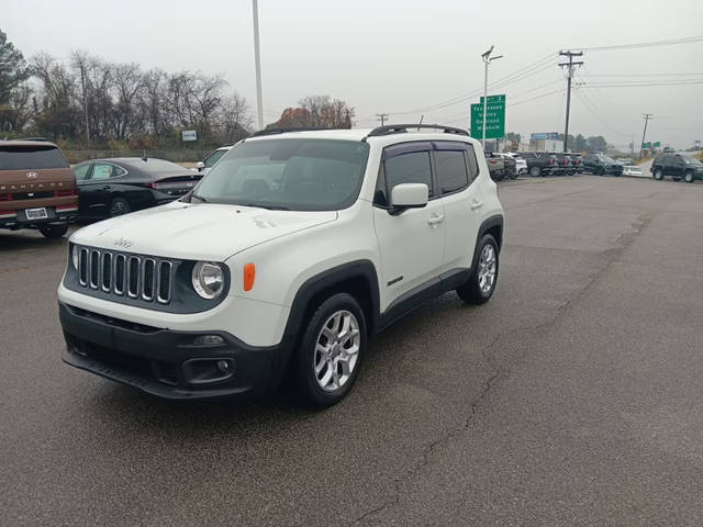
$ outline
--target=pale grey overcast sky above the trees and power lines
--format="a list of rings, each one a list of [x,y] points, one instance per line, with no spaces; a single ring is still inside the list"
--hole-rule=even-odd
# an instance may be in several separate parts
[[[0,29],[26,58],[40,51],[67,58],[71,49],[86,49],[144,68],[222,74],[255,112],[250,0],[2,4]],[[506,130],[524,135],[563,131],[559,49],[703,35],[703,1],[259,0],[259,21],[266,122],[306,94],[330,94],[356,108],[358,126],[373,125],[375,114],[386,112],[391,122],[424,114],[425,122],[468,127],[469,103],[478,102],[473,94],[483,86],[480,55],[494,44],[504,58],[491,65],[489,81],[554,54],[526,70],[544,65],[536,75],[489,90],[506,93]],[[703,42],[589,51],[574,81],[703,82],[702,59]],[[425,109],[465,94],[472,97]],[[635,136],[638,144],[648,112],[655,115],[648,139],[687,147],[703,141],[702,110],[703,83],[583,87],[572,97],[570,131],[616,145]]]

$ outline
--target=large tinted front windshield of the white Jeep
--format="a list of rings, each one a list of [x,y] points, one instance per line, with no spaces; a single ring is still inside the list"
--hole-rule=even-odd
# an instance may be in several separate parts
[[[331,139],[264,139],[233,147],[203,178],[196,199],[293,211],[332,211],[359,193],[369,145]]]

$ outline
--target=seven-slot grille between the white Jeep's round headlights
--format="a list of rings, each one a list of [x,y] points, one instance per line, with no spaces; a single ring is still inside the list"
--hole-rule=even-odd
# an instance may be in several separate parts
[[[78,283],[105,293],[168,304],[172,274],[170,260],[91,247],[78,253]]]

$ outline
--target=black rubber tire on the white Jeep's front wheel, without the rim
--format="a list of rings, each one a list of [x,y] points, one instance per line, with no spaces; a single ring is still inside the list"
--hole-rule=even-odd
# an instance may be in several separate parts
[[[358,356],[347,380],[337,389],[325,390],[321,386],[317,374],[315,373],[315,361],[317,359],[316,345],[317,339],[322,337],[323,326],[338,312],[350,313],[356,318],[359,330]],[[327,328],[330,328],[330,326],[327,326]],[[309,318],[308,327],[295,351],[295,368],[293,371],[295,372],[295,382],[303,403],[313,407],[325,408],[346,397],[359,377],[366,347],[366,317],[364,316],[364,310],[361,310],[361,306],[354,296],[348,293],[336,293],[320,304]],[[341,368],[341,365],[338,367]],[[328,366],[324,367],[320,372],[323,379],[326,373],[326,368],[328,368]]]

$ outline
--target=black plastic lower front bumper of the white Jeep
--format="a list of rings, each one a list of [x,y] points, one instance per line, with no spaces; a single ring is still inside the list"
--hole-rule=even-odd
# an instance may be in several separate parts
[[[225,332],[161,329],[62,302],[59,319],[65,362],[171,400],[258,399],[278,385],[291,350],[287,340],[254,347]],[[223,343],[194,345],[202,335],[220,336]],[[230,372],[216,374],[219,361],[231,365]]]

